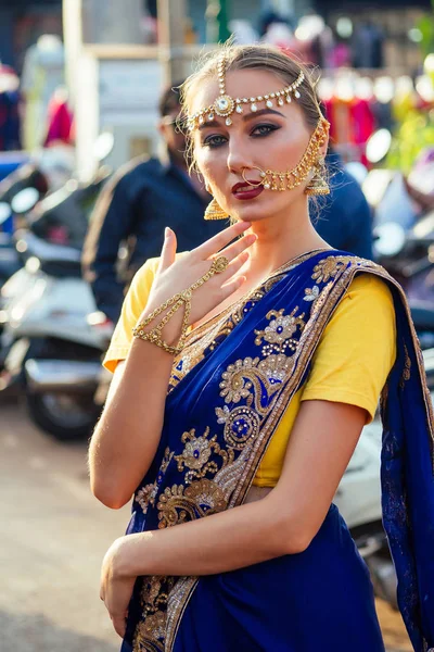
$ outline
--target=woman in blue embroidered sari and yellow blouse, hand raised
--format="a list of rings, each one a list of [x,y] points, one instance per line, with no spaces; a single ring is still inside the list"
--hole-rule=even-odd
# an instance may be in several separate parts
[[[272,48],[222,48],[188,80],[184,110],[214,196],[205,218],[235,223],[181,256],[166,233],[105,359],[115,376],[90,471],[104,504],[135,494],[101,580],[123,651],[384,651],[332,499],[387,380],[384,519],[422,652],[434,645],[423,367],[399,288],[311,226],[328,146],[312,83]]]

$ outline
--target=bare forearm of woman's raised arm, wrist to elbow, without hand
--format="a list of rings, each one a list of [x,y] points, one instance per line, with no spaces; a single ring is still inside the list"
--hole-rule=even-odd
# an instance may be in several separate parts
[[[91,490],[108,507],[130,500],[155,455],[171,365],[163,349],[133,340],[115,371],[89,447]]]

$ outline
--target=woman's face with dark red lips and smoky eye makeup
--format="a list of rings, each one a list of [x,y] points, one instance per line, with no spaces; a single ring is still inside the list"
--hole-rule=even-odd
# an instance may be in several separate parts
[[[233,98],[251,98],[273,92],[284,85],[273,73],[261,70],[228,72],[226,91]],[[207,80],[199,87],[191,113],[208,106],[218,96],[218,82]],[[303,85],[299,88],[303,93]],[[232,125],[227,127],[225,118],[215,116],[194,131],[194,156],[205,181],[222,209],[238,220],[258,221],[278,213],[288,212],[290,204],[306,202],[304,189],[308,179],[294,190],[271,191],[261,189],[256,197],[243,196],[247,189],[245,178],[258,183],[263,171],[286,172],[301,161],[308,146],[311,131],[305,124],[302,109],[296,101],[273,109],[260,109],[253,113],[250,103],[244,113],[232,113]],[[322,148],[324,153],[327,143]],[[310,175],[311,176],[311,175]],[[309,178],[310,178],[309,176]],[[243,184],[245,187],[237,187]],[[250,188],[252,190],[252,188]],[[254,193],[255,195],[255,193]]]

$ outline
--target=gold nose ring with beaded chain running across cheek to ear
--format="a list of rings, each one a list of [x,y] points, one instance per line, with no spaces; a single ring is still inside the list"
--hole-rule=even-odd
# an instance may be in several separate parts
[[[330,124],[324,117],[320,117],[318,125],[310,136],[309,143],[306,148],[305,153],[302,156],[299,163],[293,168],[285,172],[277,172],[273,170],[261,170],[257,165],[243,167],[241,176],[247,186],[257,188],[264,186],[265,190],[293,190],[303,181],[305,181],[311,170],[317,167],[319,162],[319,151],[327,141]],[[260,180],[253,184],[245,178],[247,170],[257,170],[259,172]]]

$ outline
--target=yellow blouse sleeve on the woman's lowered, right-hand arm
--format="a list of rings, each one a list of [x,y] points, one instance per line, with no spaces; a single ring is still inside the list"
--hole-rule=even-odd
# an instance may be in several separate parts
[[[358,405],[371,421],[395,358],[396,318],[387,280],[356,274],[321,335],[302,400]]]

